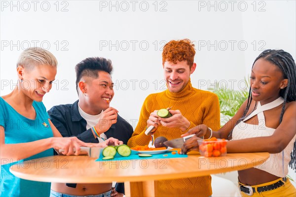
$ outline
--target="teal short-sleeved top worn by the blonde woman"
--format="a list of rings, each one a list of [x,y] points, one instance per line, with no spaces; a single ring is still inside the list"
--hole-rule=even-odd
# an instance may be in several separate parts
[[[4,127],[5,144],[31,142],[53,136],[48,122],[48,114],[42,102],[33,101],[36,119],[28,119],[14,110],[4,99],[0,98],[0,126]],[[28,181],[14,176],[9,167],[27,167],[26,160],[53,155],[53,149],[38,153],[30,158],[20,161],[9,161],[1,158],[0,196],[1,197],[49,197],[50,183]],[[45,160],[45,159],[44,159]],[[10,162],[8,164],[8,162]],[[44,161],[46,163],[46,161]],[[44,164],[45,164],[44,163]]]

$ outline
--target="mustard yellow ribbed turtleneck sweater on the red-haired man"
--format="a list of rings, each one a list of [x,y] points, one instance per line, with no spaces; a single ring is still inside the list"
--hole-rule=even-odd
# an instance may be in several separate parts
[[[151,137],[147,136],[145,131],[150,113],[171,106],[173,106],[172,110],[179,109],[190,121],[190,127],[186,131],[200,124],[207,125],[213,131],[220,129],[220,107],[217,95],[193,88],[189,81],[179,93],[166,90],[151,94],[145,99],[139,123],[127,143],[128,146],[148,145]],[[170,140],[180,137],[186,131],[158,126],[154,138],[164,136]],[[211,176],[157,181],[155,186],[155,193],[159,197],[209,197],[212,195]]]

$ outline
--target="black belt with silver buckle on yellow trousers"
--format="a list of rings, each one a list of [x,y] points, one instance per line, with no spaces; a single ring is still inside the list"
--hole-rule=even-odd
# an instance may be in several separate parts
[[[277,189],[277,188],[279,188],[279,187],[281,187],[282,185],[285,184],[283,181],[286,182],[287,177],[282,178],[282,180],[279,180],[278,182],[276,182],[274,184],[263,186],[263,187],[258,187],[257,191],[259,193],[261,193],[261,192],[266,192],[266,191],[269,191],[269,190]],[[239,184],[239,190],[246,193],[249,196],[252,196],[253,193],[256,193],[255,188],[250,186],[250,185],[241,185],[241,184]]]

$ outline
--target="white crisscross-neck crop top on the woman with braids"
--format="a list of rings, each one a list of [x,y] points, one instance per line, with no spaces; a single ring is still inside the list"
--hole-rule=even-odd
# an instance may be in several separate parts
[[[277,107],[283,102],[284,99],[282,97],[279,97],[278,99],[264,104],[262,106],[260,105],[260,102],[258,102],[257,109],[234,127],[232,131],[232,139],[237,140],[272,135],[275,129],[266,127],[263,111]],[[258,116],[259,125],[251,125],[245,123],[245,121],[256,115]],[[285,177],[288,174],[288,164],[291,160],[290,154],[293,150],[295,138],[296,135],[294,135],[293,139],[289,142],[288,146],[281,153],[270,154],[269,158],[263,164],[257,165],[255,167],[275,176]]]

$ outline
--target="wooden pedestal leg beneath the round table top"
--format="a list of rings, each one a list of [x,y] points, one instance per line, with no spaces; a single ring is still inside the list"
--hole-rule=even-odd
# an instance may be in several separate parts
[[[154,197],[154,181],[124,182],[126,197]]]

